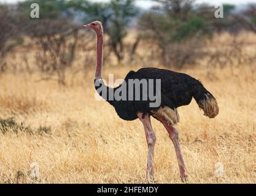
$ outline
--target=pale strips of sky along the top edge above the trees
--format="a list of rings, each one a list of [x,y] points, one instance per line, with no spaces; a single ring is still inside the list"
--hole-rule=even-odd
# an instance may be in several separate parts
[[[0,0],[0,2],[17,2],[17,1],[22,1],[22,0]],[[91,0],[91,1],[98,1],[98,2],[102,2],[102,1],[109,1],[109,0]],[[223,4],[223,3],[227,3],[227,4],[247,4],[247,3],[252,3],[252,2],[256,2],[255,0],[196,0],[197,3],[202,3],[202,2],[207,2],[208,4],[213,4],[213,5],[219,5],[219,4]],[[155,2],[152,2],[150,0],[137,0],[136,1],[136,5],[138,5],[139,7],[143,7],[143,8],[150,8],[151,6],[153,6],[155,4]]]

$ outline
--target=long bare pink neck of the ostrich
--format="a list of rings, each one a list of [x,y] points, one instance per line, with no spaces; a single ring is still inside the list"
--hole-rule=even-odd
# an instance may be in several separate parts
[[[101,78],[101,70],[103,66],[103,32],[96,32],[97,48],[96,48],[96,70],[95,78]]]

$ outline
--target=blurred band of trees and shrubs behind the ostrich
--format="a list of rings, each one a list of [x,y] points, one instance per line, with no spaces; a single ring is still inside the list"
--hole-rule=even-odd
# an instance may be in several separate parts
[[[31,18],[36,2],[40,17]],[[72,75],[95,65],[95,37],[82,25],[103,23],[104,62],[107,66],[164,66],[183,69],[204,64],[214,67],[255,66],[256,52],[243,50],[243,32],[256,34],[256,4],[216,8],[191,0],[153,0],[143,9],[134,0],[27,0],[0,4],[0,77],[6,72],[41,73],[42,80],[56,78],[66,85]],[[214,45],[214,37],[228,33],[228,45]],[[15,60],[16,59],[16,60]],[[79,59],[79,61],[77,61]]]

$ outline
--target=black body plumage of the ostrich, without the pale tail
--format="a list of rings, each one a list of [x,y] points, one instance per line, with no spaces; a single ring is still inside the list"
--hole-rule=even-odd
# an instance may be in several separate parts
[[[150,100],[142,100],[142,85],[140,86],[141,99],[140,100],[128,100],[128,88],[129,88],[129,79],[138,79],[138,80],[149,80],[149,79],[160,79],[161,80],[161,104],[159,107],[150,107]],[[190,75],[174,72],[166,69],[157,69],[153,67],[142,68],[137,72],[130,71],[125,79],[126,83],[126,100],[110,100],[109,97],[106,98],[107,102],[111,104],[117,115],[120,118],[131,121],[138,118],[138,112],[141,111],[143,115],[152,115],[152,110],[158,110],[160,107],[169,107],[169,108],[177,108],[182,105],[190,104],[192,97],[195,98],[196,102],[200,104],[202,101],[207,101],[208,98],[215,99],[212,94],[207,91],[202,83],[199,80],[196,80]],[[102,84],[104,85],[104,83]],[[118,88],[122,86],[119,85],[116,88],[109,88],[106,86],[107,95],[109,95],[109,91],[117,91]],[[100,86],[95,86],[96,90],[99,89]],[[134,88],[135,91],[135,88]],[[133,92],[135,94],[135,92]],[[155,94],[155,91],[154,91]],[[100,94],[102,96],[102,94]],[[199,105],[200,106],[200,105]],[[204,110],[204,108],[202,108]]]

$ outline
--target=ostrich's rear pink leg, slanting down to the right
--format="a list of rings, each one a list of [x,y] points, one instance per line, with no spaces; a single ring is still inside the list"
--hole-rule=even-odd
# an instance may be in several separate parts
[[[158,120],[163,124],[163,126],[165,126],[165,129],[169,134],[169,138],[173,141],[175,153],[179,164],[180,178],[183,182],[187,181],[187,169],[185,167],[184,159],[182,157],[182,153],[179,146],[178,130],[175,127],[169,125],[164,118],[158,118]]]

